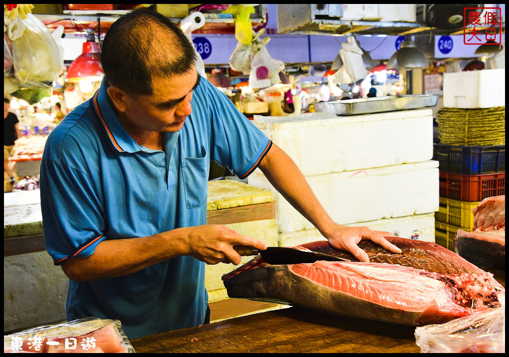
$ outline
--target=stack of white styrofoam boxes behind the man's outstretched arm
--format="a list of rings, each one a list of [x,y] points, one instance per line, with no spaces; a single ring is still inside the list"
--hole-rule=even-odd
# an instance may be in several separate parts
[[[295,161],[336,222],[435,241],[438,162],[431,160],[430,109],[255,116],[254,123]],[[248,182],[274,193],[279,246],[325,239],[259,169]]]

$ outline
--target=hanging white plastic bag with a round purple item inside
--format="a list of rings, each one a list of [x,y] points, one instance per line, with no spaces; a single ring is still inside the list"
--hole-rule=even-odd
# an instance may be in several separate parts
[[[285,63],[273,59],[264,46],[254,54],[249,73],[249,86],[253,89],[270,87],[280,83],[279,72],[285,70]]]

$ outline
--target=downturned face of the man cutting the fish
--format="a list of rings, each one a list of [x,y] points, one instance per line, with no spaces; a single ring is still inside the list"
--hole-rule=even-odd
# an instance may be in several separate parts
[[[199,82],[195,69],[181,76],[154,78],[152,95],[130,96],[124,115],[139,129],[177,132],[191,114],[192,93]]]

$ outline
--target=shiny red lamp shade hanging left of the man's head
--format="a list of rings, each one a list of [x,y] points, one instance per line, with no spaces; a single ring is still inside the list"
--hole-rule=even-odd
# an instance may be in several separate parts
[[[95,42],[85,42],[83,44],[83,53],[80,54],[67,72],[69,82],[79,82],[81,79],[88,78],[91,81],[99,81],[104,76],[101,66],[100,51]]]

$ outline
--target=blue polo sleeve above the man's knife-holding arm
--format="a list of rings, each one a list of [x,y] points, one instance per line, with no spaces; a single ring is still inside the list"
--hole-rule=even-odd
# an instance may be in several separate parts
[[[92,255],[105,237],[91,178],[62,161],[43,159],[40,188],[44,242],[54,264]]]

